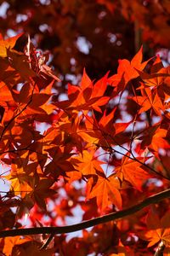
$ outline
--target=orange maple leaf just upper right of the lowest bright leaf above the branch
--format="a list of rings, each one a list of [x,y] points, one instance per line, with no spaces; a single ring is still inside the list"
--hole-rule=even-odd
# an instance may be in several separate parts
[[[137,160],[129,159],[128,156],[129,154],[123,156],[122,163],[116,166],[114,172],[121,181],[125,180],[141,191],[144,181],[150,177],[150,174],[142,169],[143,158],[137,158],[141,162],[139,163]]]

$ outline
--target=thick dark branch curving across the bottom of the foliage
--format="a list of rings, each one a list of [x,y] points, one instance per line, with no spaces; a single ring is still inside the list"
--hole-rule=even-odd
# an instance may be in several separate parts
[[[89,227],[93,227],[94,225],[97,225],[97,224],[104,224],[111,220],[116,220],[119,218],[126,217],[135,212],[139,212],[139,210],[143,209],[144,207],[148,207],[151,204],[157,203],[158,201],[161,201],[168,197],[170,197],[170,189],[164,190],[155,195],[151,195],[150,197],[146,198],[144,201],[141,201],[139,204],[133,207],[129,207],[119,212],[113,212],[102,217],[86,220],[80,224],[73,224],[73,225],[68,225],[63,227],[37,227],[37,228],[29,228],[29,229],[3,230],[3,231],[0,231],[0,237],[27,236],[27,235],[37,235],[37,234],[55,234],[56,235],[56,234],[71,233],[78,230],[84,230]]]

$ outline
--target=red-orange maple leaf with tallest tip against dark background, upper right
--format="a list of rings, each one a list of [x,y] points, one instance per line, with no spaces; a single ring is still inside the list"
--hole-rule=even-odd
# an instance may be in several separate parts
[[[148,61],[142,62],[143,57],[143,47],[141,47],[136,55],[134,55],[132,61],[127,60],[119,60],[119,66],[117,69],[117,73],[111,76],[108,79],[109,84],[112,86],[122,85],[117,88],[118,91],[124,90],[125,86],[131,79],[136,79],[139,77],[139,73],[137,70],[142,71],[144,67],[147,65]]]

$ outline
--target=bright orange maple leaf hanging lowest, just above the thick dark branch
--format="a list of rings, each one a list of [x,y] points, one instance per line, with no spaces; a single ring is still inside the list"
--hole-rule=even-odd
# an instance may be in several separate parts
[[[121,189],[116,175],[105,177],[104,172],[98,172],[97,182],[91,187],[87,199],[96,197],[97,205],[101,212],[112,204],[119,209],[122,207],[122,197],[118,189]]]

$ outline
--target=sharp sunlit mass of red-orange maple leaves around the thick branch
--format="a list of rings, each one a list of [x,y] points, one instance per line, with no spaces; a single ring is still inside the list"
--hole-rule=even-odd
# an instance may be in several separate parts
[[[22,37],[0,40],[1,179],[9,186],[1,191],[1,230],[20,230],[28,213],[33,227],[68,224],[74,212],[79,221],[95,218],[168,189],[169,67],[159,56],[143,62],[140,48],[97,81],[84,70],[59,102],[48,55],[29,37],[16,50]],[[1,238],[0,247],[7,256],[40,247],[43,255],[153,255],[162,242],[168,255],[168,216],[167,199],[69,241],[54,236],[48,248],[45,235]]]

